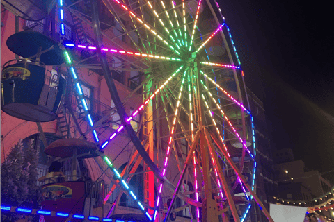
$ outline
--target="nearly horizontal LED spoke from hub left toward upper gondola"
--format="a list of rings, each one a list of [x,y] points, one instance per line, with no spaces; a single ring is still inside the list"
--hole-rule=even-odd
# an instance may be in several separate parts
[[[68,48],[74,48],[76,47],[75,44],[72,43],[65,43],[65,46]],[[77,49],[88,49],[88,50],[97,50],[96,46],[86,46],[82,44],[78,44]],[[148,57],[148,58],[160,58],[163,60],[175,60],[175,61],[181,61],[180,58],[170,58],[166,56],[157,56],[157,55],[149,55],[145,53],[137,53],[137,52],[132,52],[132,51],[124,51],[124,50],[117,50],[117,49],[108,49],[108,48],[102,48],[102,52],[109,52],[109,53],[119,53],[122,55],[127,55],[127,56],[141,56],[141,57]]]

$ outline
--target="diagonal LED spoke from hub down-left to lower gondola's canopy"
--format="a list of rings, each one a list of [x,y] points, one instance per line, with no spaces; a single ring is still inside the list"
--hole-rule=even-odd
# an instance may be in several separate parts
[[[171,75],[169,76],[169,78],[164,82],[164,84],[160,85],[160,87],[154,92],[154,94],[152,94],[148,99],[146,99],[145,102],[144,102],[143,104],[141,104],[141,105],[139,106],[138,109],[134,110],[134,112],[132,113],[132,116],[129,117],[128,119],[126,119],[125,121],[129,122],[133,117],[136,116],[136,114],[138,114],[139,111],[143,110],[144,106],[147,105],[148,102],[149,102],[151,99],[153,99],[154,96],[156,96],[156,95],[160,92],[160,90],[161,90],[162,88],[164,88],[164,87],[167,85],[167,83],[169,83],[169,81],[170,81],[170,80],[177,74],[177,72],[179,72],[182,68],[183,68],[183,65],[182,65],[179,69],[177,69],[173,74],[171,74]],[[104,143],[102,144],[102,146],[100,146],[100,149],[105,148],[106,145],[109,143],[109,141],[111,141],[112,139],[114,139],[114,138],[116,137],[116,135],[118,135],[118,133],[120,133],[120,131],[121,131],[123,128],[124,128],[124,126],[123,126],[123,125],[120,125],[120,126],[118,127],[118,129],[116,130],[116,132],[114,132],[114,133],[111,135],[111,137],[109,137],[109,140],[107,140],[106,142],[104,142]]]

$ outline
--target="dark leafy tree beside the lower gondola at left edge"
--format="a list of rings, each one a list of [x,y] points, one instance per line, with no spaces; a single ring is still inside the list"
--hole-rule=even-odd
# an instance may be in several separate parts
[[[31,146],[16,144],[1,164],[1,205],[38,208],[38,153]],[[1,221],[16,221],[17,214],[1,214]]]

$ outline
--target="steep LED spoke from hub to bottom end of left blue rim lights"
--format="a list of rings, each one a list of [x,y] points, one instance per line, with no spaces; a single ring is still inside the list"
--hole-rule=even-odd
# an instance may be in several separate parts
[[[184,85],[185,76],[186,76],[186,71],[184,71],[183,78],[182,78],[182,83],[181,83],[181,87],[180,87],[179,96],[177,97],[177,105],[176,105],[176,109],[175,109],[175,113],[174,113],[174,119],[173,119],[172,129],[170,130],[170,137],[169,137],[169,140],[168,140],[168,148],[167,148],[166,157],[165,157],[165,160],[164,160],[164,167],[162,169],[162,175],[161,176],[163,176],[163,177],[166,175],[166,168],[167,168],[167,164],[168,164],[168,157],[170,155],[170,149],[171,149],[172,142],[173,142],[173,135],[174,135],[175,126],[176,126],[175,123],[177,122],[176,119],[177,119],[177,115],[179,113],[178,111],[179,111],[180,99],[181,99],[181,96],[182,96],[182,91],[183,91],[183,85]],[[161,181],[160,185],[159,185],[159,192],[157,194],[157,200],[155,202],[156,204],[155,204],[154,215],[157,212],[157,207],[159,207],[159,201],[160,201],[160,198],[161,198],[162,187],[163,187],[163,183]]]

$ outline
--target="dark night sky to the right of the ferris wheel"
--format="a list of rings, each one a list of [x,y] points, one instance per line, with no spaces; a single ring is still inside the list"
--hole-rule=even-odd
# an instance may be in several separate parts
[[[334,169],[333,10],[315,1],[219,1],[269,137],[310,169]],[[333,177],[328,173],[325,177]]]

